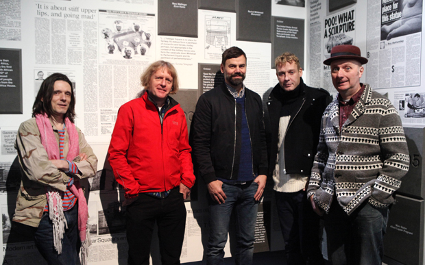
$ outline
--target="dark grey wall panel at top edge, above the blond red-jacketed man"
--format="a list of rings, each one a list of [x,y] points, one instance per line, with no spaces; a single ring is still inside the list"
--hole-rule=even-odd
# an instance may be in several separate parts
[[[197,0],[158,1],[158,35],[197,38]]]

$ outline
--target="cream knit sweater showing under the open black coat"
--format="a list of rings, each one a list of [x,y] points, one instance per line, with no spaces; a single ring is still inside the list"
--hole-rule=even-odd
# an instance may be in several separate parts
[[[278,192],[298,192],[306,187],[308,175],[302,174],[287,174],[284,165],[284,135],[287,132],[289,119],[291,116],[280,117],[279,120],[279,141],[278,155],[276,157],[276,166],[273,171],[274,187]],[[291,155],[291,153],[287,153]],[[282,157],[282,159],[280,159]]]

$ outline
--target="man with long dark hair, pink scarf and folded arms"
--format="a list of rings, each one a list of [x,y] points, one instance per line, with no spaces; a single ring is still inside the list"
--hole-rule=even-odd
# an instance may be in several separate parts
[[[61,73],[50,75],[15,143],[22,181],[13,220],[36,227],[36,247],[55,265],[76,264],[80,244],[85,264],[90,244],[87,203],[78,180],[95,176],[97,157],[74,125],[74,108],[71,81]]]

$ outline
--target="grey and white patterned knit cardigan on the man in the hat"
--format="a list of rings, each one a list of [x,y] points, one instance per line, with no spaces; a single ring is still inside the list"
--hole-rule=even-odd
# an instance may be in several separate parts
[[[321,118],[317,154],[307,196],[327,213],[336,196],[347,214],[368,202],[384,208],[409,170],[409,151],[400,116],[391,101],[368,84],[339,127],[338,97]]]

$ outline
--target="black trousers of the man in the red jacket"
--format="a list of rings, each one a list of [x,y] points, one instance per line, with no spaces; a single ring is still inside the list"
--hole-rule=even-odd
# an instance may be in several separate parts
[[[178,188],[165,199],[139,193],[127,206],[128,264],[149,264],[151,238],[155,221],[158,225],[163,265],[180,264],[186,226],[186,207]]]

